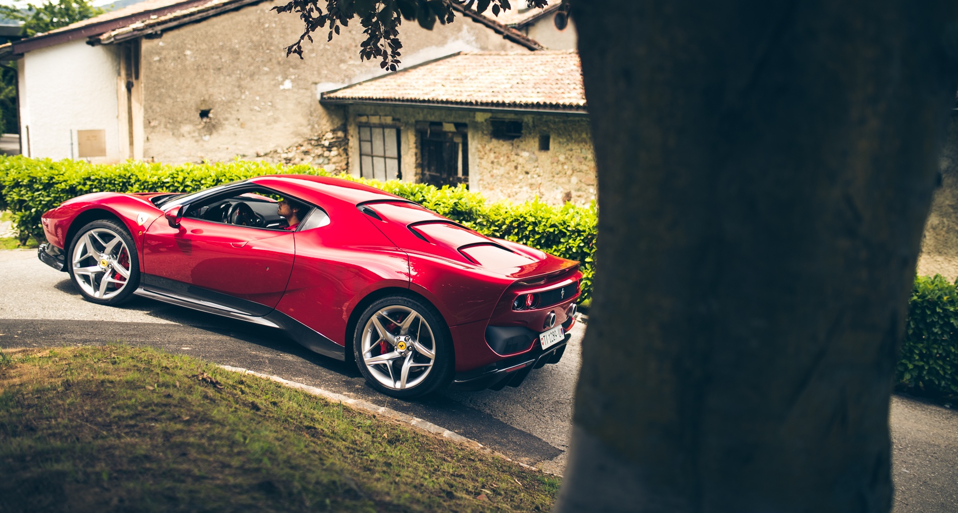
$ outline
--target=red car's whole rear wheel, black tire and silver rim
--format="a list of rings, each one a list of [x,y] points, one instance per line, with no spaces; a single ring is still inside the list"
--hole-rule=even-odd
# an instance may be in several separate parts
[[[447,387],[455,370],[443,316],[411,294],[382,298],[363,311],[354,331],[353,355],[371,387],[399,399]]]

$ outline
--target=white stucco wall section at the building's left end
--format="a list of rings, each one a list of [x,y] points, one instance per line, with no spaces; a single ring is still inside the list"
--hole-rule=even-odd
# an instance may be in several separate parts
[[[85,39],[27,53],[19,62],[20,133],[27,154],[65,159],[78,155],[78,130],[105,130],[106,156],[92,162],[125,158],[125,134],[118,120],[119,62],[112,46],[90,46]],[[71,141],[71,130],[73,139]]]

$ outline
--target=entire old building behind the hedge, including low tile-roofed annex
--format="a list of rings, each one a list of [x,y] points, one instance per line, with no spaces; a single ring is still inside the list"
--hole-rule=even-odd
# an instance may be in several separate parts
[[[493,200],[594,199],[579,58],[528,35],[574,46],[556,8],[500,20],[453,5],[455,23],[404,24],[404,67],[384,75],[359,59],[358,24],[331,41],[315,34],[304,59],[286,56],[303,25],[271,11],[280,4],[146,0],[0,46],[0,58],[17,60],[23,152],[95,163],[239,157],[465,183]]]

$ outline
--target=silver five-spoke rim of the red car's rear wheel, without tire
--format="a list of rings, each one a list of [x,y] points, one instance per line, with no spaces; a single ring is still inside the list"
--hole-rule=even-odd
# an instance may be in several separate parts
[[[362,331],[362,359],[376,381],[392,390],[415,388],[436,362],[436,337],[422,315],[407,306],[381,308]]]

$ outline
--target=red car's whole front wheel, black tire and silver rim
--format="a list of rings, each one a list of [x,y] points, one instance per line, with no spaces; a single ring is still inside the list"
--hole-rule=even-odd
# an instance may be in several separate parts
[[[70,241],[66,266],[86,301],[120,304],[140,286],[136,244],[129,231],[113,220],[93,221],[80,228]]]

